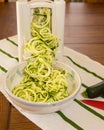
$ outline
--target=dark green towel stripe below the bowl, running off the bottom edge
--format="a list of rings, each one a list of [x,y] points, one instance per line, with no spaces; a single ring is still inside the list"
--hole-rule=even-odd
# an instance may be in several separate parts
[[[60,117],[61,117],[64,121],[66,121],[67,123],[69,123],[70,125],[72,125],[72,126],[73,126],[74,128],[76,128],[77,130],[84,130],[84,129],[81,128],[79,125],[77,125],[75,122],[73,122],[73,121],[70,120],[68,117],[66,117],[63,112],[57,111],[56,113],[57,113],[58,115],[60,115]]]

